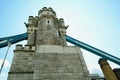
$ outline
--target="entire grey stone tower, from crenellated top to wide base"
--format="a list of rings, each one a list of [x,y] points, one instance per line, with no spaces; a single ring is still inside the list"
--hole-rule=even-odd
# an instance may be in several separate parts
[[[29,16],[27,45],[16,45],[8,80],[90,80],[79,47],[67,46],[64,19],[44,7]]]

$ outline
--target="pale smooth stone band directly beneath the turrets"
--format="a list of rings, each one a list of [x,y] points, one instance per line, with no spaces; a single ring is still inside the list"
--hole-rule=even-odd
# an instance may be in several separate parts
[[[82,53],[76,46],[37,45],[36,53]]]

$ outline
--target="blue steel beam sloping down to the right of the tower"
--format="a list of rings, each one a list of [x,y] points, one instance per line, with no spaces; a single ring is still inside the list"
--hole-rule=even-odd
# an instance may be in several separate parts
[[[92,46],[90,46],[90,45],[88,45],[86,43],[78,41],[78,40],[76,40],[76,39],[74,39],[74,38],[72,38],[70,36],[66,36],[66,40],[68,42],[80,47],[80,48],[83,48],[83,49],[85,49],[85,50],[87,50],[87,51],[89,51],[91,53],[94,53],[94,54],[96,54],[96,55],[98,55],[98,56],[100,56],[100,57],[102,57],[102,58],[104,58],[106,60],[110,60],[110,61],[120,65],[120,58],[117,58],[117,57],[115,57],[115,56],[113,56],[113,55],[111,55],[111,54],[109,54],[107,52],[104,52],[104,51],[102,51],[100,49],[92,47]]]

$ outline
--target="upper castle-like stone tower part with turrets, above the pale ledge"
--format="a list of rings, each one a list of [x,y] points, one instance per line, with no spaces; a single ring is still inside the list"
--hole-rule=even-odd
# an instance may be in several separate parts
[[[67,45],[64,19],[58,19],[52,8],[44,7],[38,16],[29,16],[26,27],[28,45]]]

